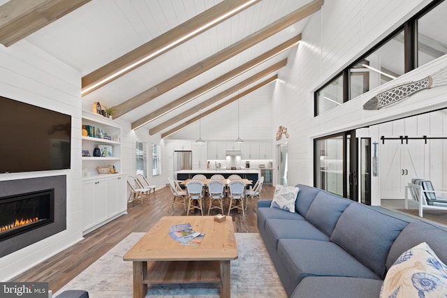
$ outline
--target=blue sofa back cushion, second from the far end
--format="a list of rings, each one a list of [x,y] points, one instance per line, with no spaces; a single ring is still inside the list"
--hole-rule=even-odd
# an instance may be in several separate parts
[[[330,236],[339,216],[351,203],[350,200],[321,191],[310,205],[306,214],[306,221]]]

